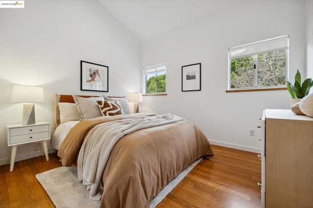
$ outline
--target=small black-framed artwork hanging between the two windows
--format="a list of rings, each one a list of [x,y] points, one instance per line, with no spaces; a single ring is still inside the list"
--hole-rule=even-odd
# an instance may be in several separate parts
[[[201,63],[181,66],[181,91],[201,90]]]

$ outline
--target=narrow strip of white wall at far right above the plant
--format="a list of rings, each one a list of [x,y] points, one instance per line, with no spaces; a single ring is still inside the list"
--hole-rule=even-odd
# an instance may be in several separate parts
[[[313,0],[306,0],[306,78],[313,79]],[[313,89],[311,89],[313,92]]]

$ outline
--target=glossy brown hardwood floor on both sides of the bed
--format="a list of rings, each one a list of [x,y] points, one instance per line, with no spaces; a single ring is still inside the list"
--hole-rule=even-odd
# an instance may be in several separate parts
[[[256,153],[213,146],[214,157],[202,159],[158,208],[260,208],[261,162]],[[0,166],[0,208],[54,207],[37,173],[61,166],[56,154]]]

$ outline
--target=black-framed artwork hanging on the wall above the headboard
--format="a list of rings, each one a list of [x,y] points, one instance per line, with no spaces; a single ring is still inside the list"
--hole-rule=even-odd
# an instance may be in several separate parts
[[[80,61],[80,90],[109,91],[109,67]]]

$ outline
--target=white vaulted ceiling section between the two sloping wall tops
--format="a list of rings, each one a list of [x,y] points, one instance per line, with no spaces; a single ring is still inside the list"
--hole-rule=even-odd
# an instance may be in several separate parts
[[[140,41],[199,20],[241,0],[98,0]]]

